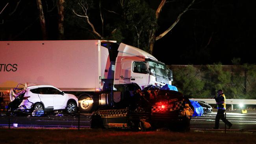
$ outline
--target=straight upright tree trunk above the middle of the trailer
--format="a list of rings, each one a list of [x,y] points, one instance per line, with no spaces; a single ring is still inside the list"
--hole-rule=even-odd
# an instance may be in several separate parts
[[[58,0],[57,7],[58,7],[58,14],[59,14],[59,40],[64,39],[64,4],[65,0]]]

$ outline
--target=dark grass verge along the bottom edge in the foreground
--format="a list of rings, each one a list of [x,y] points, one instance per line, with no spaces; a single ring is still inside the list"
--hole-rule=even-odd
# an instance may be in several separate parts
[[[0,128],[1,144],[255,144],[256,133],[134,132],[115,129]]]

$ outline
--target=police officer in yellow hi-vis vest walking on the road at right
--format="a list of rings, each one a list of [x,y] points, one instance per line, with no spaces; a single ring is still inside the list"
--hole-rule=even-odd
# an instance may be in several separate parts
[[[223,90],[218,90],[217,91],[218,95],[217,97],[215,96],[214,99],[217,104],[217,115],[215,118],[215,127],[213,129],[219,129],[219,120],[221,119],[227,126],[228,129],[232,126],[231,122],[229,122],[225,117],[224,117],[224,112],[226,110],[226,97],[223,93]]]

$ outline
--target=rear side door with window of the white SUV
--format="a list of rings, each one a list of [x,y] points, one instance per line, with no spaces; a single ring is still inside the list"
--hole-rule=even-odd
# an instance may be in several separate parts
[[[39,90],[39,98],[41,100],[41,102],[43,103],[45,110],[53,110],[53,106],[54,106],[54,95],[49,93],[49,89],[50,87],[40,87],[38,88]]]

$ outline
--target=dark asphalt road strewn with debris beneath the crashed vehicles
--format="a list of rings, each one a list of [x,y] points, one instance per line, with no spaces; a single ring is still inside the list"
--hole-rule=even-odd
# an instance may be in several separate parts
[[[256,131],[256,113],[254,111],[247,114],[236,113],[239,111],[227,111],[226,117],[232,122],[232,130],[253,130]],[[216,112],[195,116],[191,119],[191,129],[212,129],[215,124]],[[8,116],[8,114],[0,114],[0,126],[10,126],[18,124],[18,127],[90,127],[91,114],[68,115],[61,113],[46,114],[45,116]],[[78,122],[80,122],[78,124]],[[224,123],[220,120],[220,129],[224,129]]]

